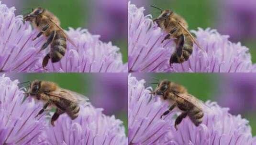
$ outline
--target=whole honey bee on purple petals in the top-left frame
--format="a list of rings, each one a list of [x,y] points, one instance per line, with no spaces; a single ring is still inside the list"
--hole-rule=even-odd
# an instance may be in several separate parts
[[[45,56],[42,66],[48,64],[49,59],[54,62],[59,62],[65,55],[67,49],[67,40],[76,47],[73,41],[71,41],[65,31],[60,27],[59,19],[50,11],[44,8],[36,8],[32,10],[30,14],[23,18],[24,21],[30,21],[34,28],[40,32],[33,38],[33,41],[39,38],[42,34],[47,41],[43,44],[40,51],[45,50],[50,44],[50,52]]]

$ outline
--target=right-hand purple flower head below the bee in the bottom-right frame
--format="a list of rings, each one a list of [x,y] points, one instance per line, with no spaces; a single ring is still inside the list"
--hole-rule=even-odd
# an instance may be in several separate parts
[[[206,102],[212,113],[205,114],[202,124],[196,127],[187,117],[172,128],[167,135],[170,145],[255,145],[251,127],[241,115],[228,113],[229,108],[221,108],[215,102]]]

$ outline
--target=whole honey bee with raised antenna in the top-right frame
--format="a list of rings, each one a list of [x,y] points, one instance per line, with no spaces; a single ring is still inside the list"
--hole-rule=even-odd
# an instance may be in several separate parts
[[[180,15],[172,10],[161,10],[161,14],[154,19],[158,27],[166,31],[168,34],[162,42],[170,38],[176,38],[176,50],[169,59],[169,64],[183,63],[189,59],[189,56],[193,52],[193,43],[195,43],[200,49],[199,43],[195,40],[193,35],[188,31],[188,23]]]

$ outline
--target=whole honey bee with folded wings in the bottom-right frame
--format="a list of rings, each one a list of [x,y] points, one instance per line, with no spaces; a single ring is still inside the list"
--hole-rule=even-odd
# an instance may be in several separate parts
[[[203,104],[202,101],[187,92],[187,89],[177,83],[163,80],[158,83],[156,90],[151,94],[160,95],[161,99],[168,101],[171,107],[161,115],[161,118],[169,114],[175,107],[178,107],[182,113],[175,120],[175,129],[181,123],[182,119],[189,116],[190,120],[198,126],[202,123],[204,112],[210,112],[211,108]]]

